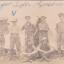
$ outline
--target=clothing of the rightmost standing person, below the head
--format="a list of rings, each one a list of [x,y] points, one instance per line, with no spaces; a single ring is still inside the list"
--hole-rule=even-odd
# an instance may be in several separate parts
[[[64,22],[59,22],[56,25],[56,31],[57,31],[57,46],[58,50],[64,49]]]

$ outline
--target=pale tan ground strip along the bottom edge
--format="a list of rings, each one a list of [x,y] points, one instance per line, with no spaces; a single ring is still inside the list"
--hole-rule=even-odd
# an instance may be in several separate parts
[[[10,59],[9,57],[0,57],[0,64],[64,64],[64,57],[58,57],[56,59],[50,59],[49,61],[46,60],[35,60],[32,62],[24,62],[26,58],[13,58]]]

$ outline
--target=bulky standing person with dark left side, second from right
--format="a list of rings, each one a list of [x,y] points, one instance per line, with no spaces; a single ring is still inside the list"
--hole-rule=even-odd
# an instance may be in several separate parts
[[[46,53],[50,52],[50,47],[48,42],[48,31],[49,31],[49,27],[48,24],[46,23],[46,17],[41,16],[41,18],[38,19],[38,22],[36,24],[34,45],[37,47],[38,56],[44,58],[46,61],[48,61],[48,58],[46,57]]]

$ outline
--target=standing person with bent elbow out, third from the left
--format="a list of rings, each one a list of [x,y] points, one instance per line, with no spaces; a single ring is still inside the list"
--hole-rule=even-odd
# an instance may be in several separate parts
[[[25,30],[25,47],[26,47],[26,52],[31,53],[34,51],[34,48],[32,47],[34,43],[34,31],[35,28],[34,26],[30,23],[30,16],[26,16],[26,24],[22,27],[22,30]]]

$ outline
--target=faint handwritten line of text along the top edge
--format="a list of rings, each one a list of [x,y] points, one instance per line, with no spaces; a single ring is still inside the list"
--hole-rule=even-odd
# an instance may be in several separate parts
[[[63,1],[58,1],[58,2],[55,2],[55,1],[18,1],[18,2],[14,2],[11,1],[11,2],[3,2],[3,3],[0,3],[0,6],[1,7],[6,7],[6,6],[10,6],[12,5],[13,7],[19,7],[19,8],[22,8],[22,7],[31,7],[31,6],[34,6],[34,7],[43,7],[43,6],[64,6],[64,2]]]

